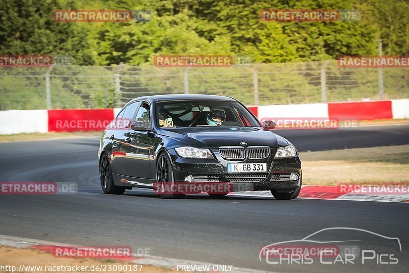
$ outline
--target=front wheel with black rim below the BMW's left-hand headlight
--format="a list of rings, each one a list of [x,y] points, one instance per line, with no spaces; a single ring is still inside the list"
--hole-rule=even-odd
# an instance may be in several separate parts
[[[162,153],[156,162],[156,185],[157,192],[162,198],[176,199],[182,198],[185,194],[175,194],[172,188],[175,185],[175,179],[173,176],[173,169],[170,163],[170,158],[166,153]]]

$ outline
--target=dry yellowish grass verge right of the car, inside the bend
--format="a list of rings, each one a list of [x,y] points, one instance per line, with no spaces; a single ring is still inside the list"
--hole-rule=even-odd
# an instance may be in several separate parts
[[[409,182],[409,145],[300,152],[304,185]]]

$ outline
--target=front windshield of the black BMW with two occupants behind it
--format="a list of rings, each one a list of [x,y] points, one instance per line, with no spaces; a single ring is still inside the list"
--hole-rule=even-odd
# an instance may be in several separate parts
[[[156,104],[159,127],[238,126],[260,127],[260,123],[237,101],[167,101]]]

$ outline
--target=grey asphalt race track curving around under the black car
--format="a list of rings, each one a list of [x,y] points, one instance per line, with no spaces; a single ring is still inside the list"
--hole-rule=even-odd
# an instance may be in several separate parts
[[[277,132],[300,151],[409,143],[408,125],[352,130]],[[409,207],[405,203],[192,195],[161,199],[153,191],[102,193],[98,139],[0,143],[0,181],[76,182],[73,195],[0,195],[0,234],[79,245],[127,245],[150,255],[268,271],[407,271]],[[398,264],[267,264],[262,246],[302,239],[328,227],[351,227],[399,238]],[[354,237],[354,245],[396,253],[378,236],[334,232],[325,240]],[[365,244],[365,245],[364,245]],[[319,259],[318,259],[319,260]],[[22,259],[24,261],[24,259]]]

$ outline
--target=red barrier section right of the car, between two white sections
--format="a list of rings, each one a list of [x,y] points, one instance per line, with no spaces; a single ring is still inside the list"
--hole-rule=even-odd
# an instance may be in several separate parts
[[[392,118],[392,101],[328,103],[329,118],[373,120]]]

